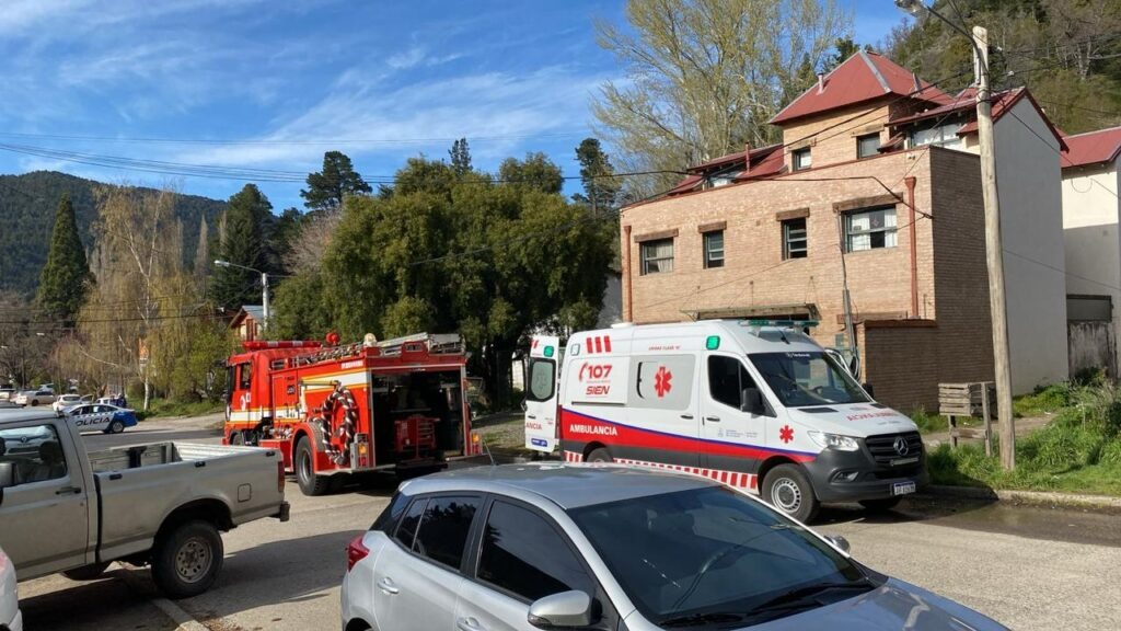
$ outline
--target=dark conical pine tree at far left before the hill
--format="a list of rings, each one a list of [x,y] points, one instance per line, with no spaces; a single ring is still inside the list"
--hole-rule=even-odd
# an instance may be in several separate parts
[[[45,314],[73,322],[90,282],[90,266],[77,235],[77,220],[68,194],[58,201],[55,227],[50,235],[47,264],[39,276],[36,301]]]

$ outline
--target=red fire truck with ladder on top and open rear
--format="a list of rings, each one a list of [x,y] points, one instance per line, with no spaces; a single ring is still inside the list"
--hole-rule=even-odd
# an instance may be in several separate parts
[[[242,347],[226,362],[223,442],[279,450],[305,495],[337,490],[348,474],[417,475],[478,455],[457,335]]]

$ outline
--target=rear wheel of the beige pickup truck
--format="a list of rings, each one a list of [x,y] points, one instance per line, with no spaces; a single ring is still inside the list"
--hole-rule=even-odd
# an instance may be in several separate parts
[[[213,523],[180,523],[156,541],[151,579],[169,598],[197,596],[214,584],[224,555],[222,537]]]

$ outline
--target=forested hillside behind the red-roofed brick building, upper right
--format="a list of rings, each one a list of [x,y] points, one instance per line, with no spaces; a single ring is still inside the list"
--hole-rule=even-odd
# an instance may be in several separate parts
[[[989,29],[994,88],[1027,85],[1067,134],[1121,125],[1121,0],[938,0]],[[955,93],[973,81],[969,39],[934,16],[897,27],[884,53]]]

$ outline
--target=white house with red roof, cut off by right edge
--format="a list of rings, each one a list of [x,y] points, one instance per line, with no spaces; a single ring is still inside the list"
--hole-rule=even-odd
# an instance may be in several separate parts
[[[1072,374],[1104,366],[1118,376],[1121,347],[1121,127],[1064,138],[1063,236]]]

